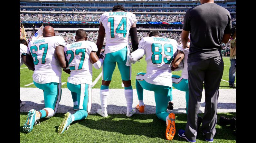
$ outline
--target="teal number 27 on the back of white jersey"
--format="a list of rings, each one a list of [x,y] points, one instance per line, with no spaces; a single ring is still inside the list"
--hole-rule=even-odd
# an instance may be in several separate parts
[[[81,59],[80,59],[79,65],[78,65],[78,69],[82,69],[82,67],[83,67],[83,62],[85,59],[85,52],[86,52],[85,48],[84,49],[76,49],[76,51],[75,51],[76,55],[79,55],[80,53],[82,53]],[[68,50],[66,53],[67,53],[67,55],[71,54],[71,57],[70,57],[69,63],[68,63],[68,64],[70,64],[74,60],[74,57],[75,57],[74,52],[72,50]],[[75,66],[71,66],[69,68],[70,68],[70,70],[76,69]]]

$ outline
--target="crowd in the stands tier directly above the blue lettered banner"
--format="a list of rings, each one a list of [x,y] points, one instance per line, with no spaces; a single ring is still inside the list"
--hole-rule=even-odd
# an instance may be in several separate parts
[[[156,15],[136,14],[136,19],[141,22],[163,21],[183,22],[184,15]],[[100,14],[32,14],[20,13],[22,21],[99,21]],[[232,15],[232,21],[236,20],[236,14]]]

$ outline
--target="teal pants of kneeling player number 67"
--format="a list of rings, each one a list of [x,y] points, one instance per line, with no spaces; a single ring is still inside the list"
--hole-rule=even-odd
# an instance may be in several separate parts
[[[44,106],[45,108],[52,108],[54,114],[56,113],[59,102],[61,99],[61,83],[36,83],[33,81],[35,86],[43,90]]]

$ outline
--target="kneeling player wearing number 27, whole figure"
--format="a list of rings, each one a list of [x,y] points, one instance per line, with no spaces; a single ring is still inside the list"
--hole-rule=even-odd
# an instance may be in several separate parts
[[[78,29],[76,31],[76,42],[67,44],[64,47],[65,57],[68,59],[70,73],[67,87],[71,91],[73,101],[78,102],[79,111],[75,114],[67,112],[58,132],[62,134],[69,128],[73,121],[83,120],[88,116],[91,109],[91,85],[92,85],[92,65],[100,69],[103,62],[103,54],[98,58],[96,52],[98,48],[94,42],[86,41],[86,31]]]

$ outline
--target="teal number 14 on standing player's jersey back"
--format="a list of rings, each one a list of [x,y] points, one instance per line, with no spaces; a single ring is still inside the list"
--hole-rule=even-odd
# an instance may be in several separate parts
[[[124,38],[126,37],[126,33],[127,33],[127,30],[126,30],[126,23],[127,22],[126,22],[126,20],[127,20],[127,18],[123,17],[121,19],[119,25],[116,28],[116,32],[120,33],[120,34],[123,34]],[[110,22],[110,35],[111,35],[111,38],[115,38],[114,17],[109,17],[108,22]],[[122,25],[124,25],[124,28],[123,28],[123,30],[120,30]]]

